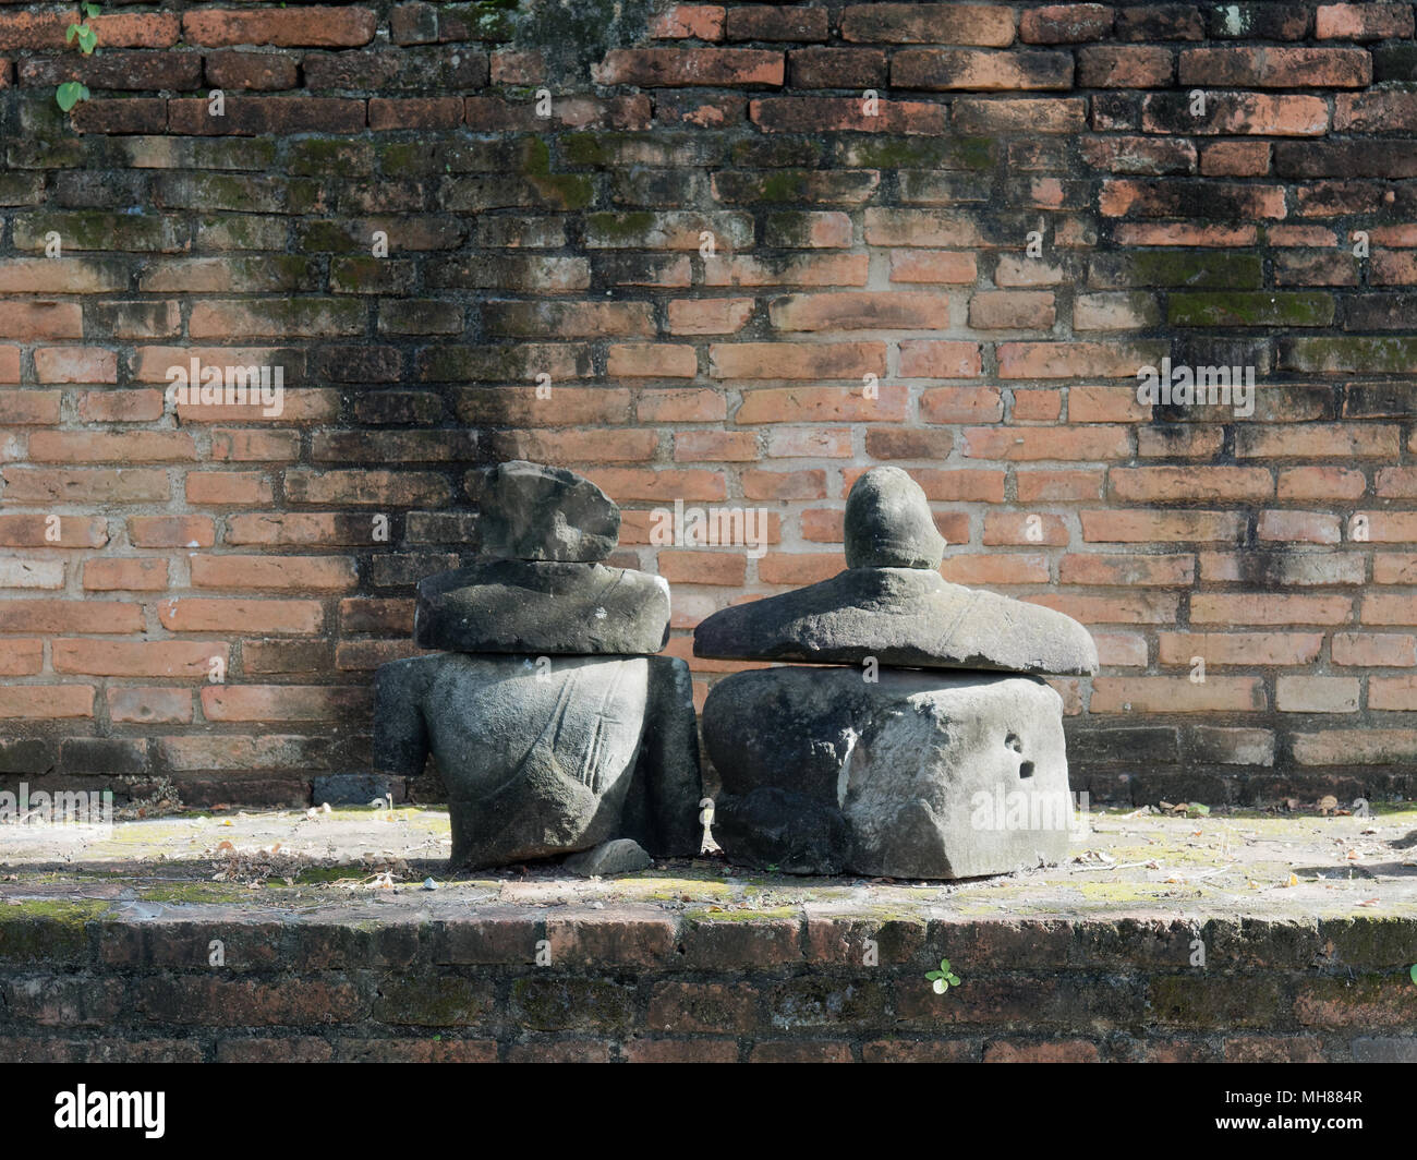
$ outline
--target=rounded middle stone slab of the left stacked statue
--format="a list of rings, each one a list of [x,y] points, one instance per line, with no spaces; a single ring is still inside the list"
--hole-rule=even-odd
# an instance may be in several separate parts
[[[418,584],[414,640],[533,657],[659,652],[669,581],[604,564],[483,560]]]

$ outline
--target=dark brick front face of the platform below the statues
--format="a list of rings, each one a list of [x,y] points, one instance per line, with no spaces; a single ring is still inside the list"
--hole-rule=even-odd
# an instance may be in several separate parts
[[[3,906],[0,1059],[1401,1062],[1417,1031],[1410,919],[366,909]],[[944,954],[969,966],[937,996]]]

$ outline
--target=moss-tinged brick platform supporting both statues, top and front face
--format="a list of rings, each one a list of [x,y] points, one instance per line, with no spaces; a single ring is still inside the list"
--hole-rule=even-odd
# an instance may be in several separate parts
[[[0,827],[0,1061],[1417,1061],[1417,808],[1193,814],[952,883],[446,879],[421,808]]]

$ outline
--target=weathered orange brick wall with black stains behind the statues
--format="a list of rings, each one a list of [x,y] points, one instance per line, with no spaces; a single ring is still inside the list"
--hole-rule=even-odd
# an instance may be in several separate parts
[[[1077,788],[1411,794],[1413,17],[123,3],[84,57],[4,3],[0,776],[364,770],[468,469],[524,457],[626,508],[676,655],[894,462],[949,579],[1094,628]],[[1138,403],[1162,356],[1253,416]],[[193,357],[283,411],[164,401]],[[652,543],[676,499],[767,553]]]

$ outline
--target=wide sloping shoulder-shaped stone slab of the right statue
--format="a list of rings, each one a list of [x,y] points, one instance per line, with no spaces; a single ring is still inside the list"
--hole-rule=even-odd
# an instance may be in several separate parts
[[[847,569],[819,584],[723,608],[694,630],[694,655],[1097,672],[1097,645],[1071,617],[901,567]]]

